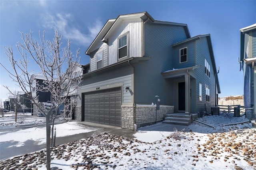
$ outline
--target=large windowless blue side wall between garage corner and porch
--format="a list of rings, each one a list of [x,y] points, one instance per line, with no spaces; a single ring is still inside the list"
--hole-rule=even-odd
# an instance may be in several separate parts
[[[135,63],[135,102],[155,103],[155,96],[160,96],[161,105],[173,104],[171,79],[164,79],[162,72],[173,68],[172,44],[186,40],[182,26],[145,24],[145,56],[148,61]]]

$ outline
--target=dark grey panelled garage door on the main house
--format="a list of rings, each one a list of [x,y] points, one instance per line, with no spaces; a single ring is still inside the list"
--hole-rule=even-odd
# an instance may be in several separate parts
[[[121,87],[84,94],[84,120],[121,126]]]

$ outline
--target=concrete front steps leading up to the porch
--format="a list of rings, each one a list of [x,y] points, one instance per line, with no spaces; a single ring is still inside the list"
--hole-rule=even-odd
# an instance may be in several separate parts
[[[170,113],[164,115],[163,123],[172,125],[188,126],[193,122],[193,119],[197,119],[198,114],[186,114],[186,113]]]

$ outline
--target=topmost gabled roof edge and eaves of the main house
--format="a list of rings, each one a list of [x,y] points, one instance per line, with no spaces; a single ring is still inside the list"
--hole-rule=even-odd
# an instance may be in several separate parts
[[[99,34],[96,36],[90,47],[87,49],[85,54],[90,55],[90,52],[95,49],[97,42],[102,41],[105,43],[108,43],[109,36],[116,30],[120,22],[123,20],[130,20],[133,18],[141,18],[142,20],[149,19],[154,24],[165,24],[165,25],[176,25],[176,26],[183,26],[185,27],[185,32],[187,34],[187,37],[190,38],[190,33],[188,31],[187,24],[180,24],[175,22],[166,22],[166,21],[160,21],[160,20],[154,20],[148,12],[140,12],[140,13],[134,13],[134,14],[125,14],[120,15],[116,19],[111,19],[106,22],[106,24],[103,26],[102,30],[100,30]]]

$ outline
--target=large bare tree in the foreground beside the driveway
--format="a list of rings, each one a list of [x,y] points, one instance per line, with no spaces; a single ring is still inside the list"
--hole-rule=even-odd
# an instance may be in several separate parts
[[[6,69],[10,77],[18,86],[31,97],[34,105],[46,117],[46,168],[50,170],[51,161],[51,138],[50,123],[52,123],[52,132],[54,129],[54,120],[58,115],[61,105],[65,105],[64,111],[68,111],[70,105],[76,103],[77,89],[81,83],[81,76],[76,75],[80,57],[80,49],[73,55],[70,49],[70,40],[67,40],[66,47],[62,46],[62,35],[55,30],[53,41],[45,40],[45,32],[39,32],[39,41],[32,38],[32,31],[28,34],[21,33],[22,43],[18,42],[17,49],[21,57],[15,58],[12,46],[4,47],[8,56],[13,72]],[[38,94],[33,96],[31,77],[33,72],[30,60],[39,68],[39,73],[44,77],[43,84],[36,83],[37,91],[50,92],[50,105],[44,105],[38,101]],[[8,89],[8,87],[6,87]],[[9,90],[10,91],[10,90]],[[30,93],[31,92],[31,93]],[[72,97],[70,95],[72,94]],[[71,112],[72,113],[72,112]],[[52,134],[53,136],[53,134]],[[53,138],[53,137],[52,137]]]

